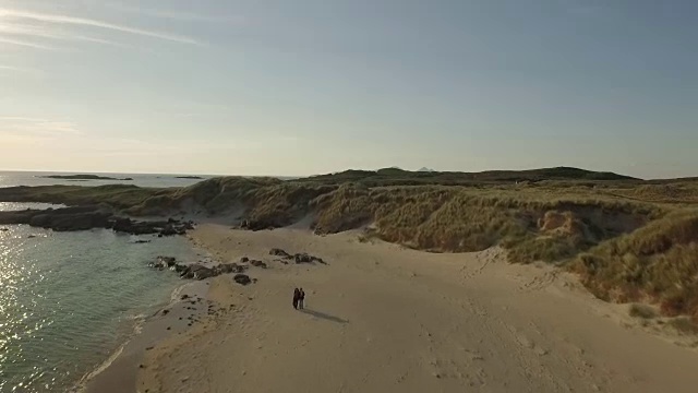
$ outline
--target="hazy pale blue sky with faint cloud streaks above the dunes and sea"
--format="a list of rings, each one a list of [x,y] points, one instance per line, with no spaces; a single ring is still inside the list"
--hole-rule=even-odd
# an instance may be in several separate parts
[[[0,0],[0,170],[698,176],[695,0]]]

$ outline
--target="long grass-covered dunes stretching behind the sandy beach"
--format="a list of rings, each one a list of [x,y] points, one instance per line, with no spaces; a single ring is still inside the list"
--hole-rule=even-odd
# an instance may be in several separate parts
[[[581,275],[597,296],[658,303],[698,323],[698,181],[643,181],[576,168],[526,171],[349,170],[282,181],[214,178],[181,189],[0,189],[0,201],[103,204],[134,216],[233,213],[251,229],[303,218],[317,233],[432,252],[508,250]]]

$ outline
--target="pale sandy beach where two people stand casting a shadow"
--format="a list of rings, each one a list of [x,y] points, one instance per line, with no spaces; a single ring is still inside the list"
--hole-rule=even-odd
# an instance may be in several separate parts
[[[232,231],[195,241],[224,261],[265,259],[258,283],[230,276],[229,310],[144,359],[145,392],[695,392],[698,354],[628,326],[571,277],[503,262],[493,249],[429,254],[356,235]],[[273,247],[329,265],[284,265]],[[308,294],[296,311],[296,286]],[[229,305],[233,305],[232,308]],[[625,325],[625,327],[624,327]]]

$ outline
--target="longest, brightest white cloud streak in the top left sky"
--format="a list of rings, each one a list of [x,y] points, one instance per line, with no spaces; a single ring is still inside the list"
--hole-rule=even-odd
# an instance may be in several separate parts
[[[22,11],[14,9],[5,9],[0,8],[0,19],[21,19],[21,20],[31,20],[37,22],[52,23],[52,24],[65,24],[73,26],[89,26],[104,28],[120,33],[134,34],[143,37],[158,38],[180,44],[191,44],[191,45],[201,45],[197,40],[186,37],[180,36],[176,34],[165,33],[165,32],[156,32],[149,31],[139,27],[125,26],[115,23],[109,23],[105,21],[98,21],[94,19],[87,17],[76,17],[70,15],[60,15],[60,14],[49,14],[49,13],[39,13],[39,12],[31,12],[31,11]]]

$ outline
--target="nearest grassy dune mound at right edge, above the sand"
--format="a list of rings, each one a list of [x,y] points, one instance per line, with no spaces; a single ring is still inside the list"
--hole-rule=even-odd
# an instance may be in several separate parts
[[[648,297],[665,315],[698,321],[698,210],[672,212],[600,243],[580,254],[573,270],[602,299]]]

